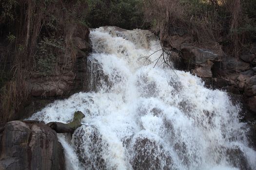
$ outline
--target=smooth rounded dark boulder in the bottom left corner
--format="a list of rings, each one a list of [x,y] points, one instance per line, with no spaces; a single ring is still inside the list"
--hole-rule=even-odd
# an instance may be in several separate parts
[[[64,170],[57,134],[39,123],[6,123],[0,142],[0,170]]]

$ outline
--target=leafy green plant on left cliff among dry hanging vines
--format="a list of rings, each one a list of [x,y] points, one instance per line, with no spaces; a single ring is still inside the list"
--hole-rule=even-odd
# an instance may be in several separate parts
[[[57,55],[64,54],[64,39],[44,37],[38,44],[34,75],[49,76],[55,70]]]

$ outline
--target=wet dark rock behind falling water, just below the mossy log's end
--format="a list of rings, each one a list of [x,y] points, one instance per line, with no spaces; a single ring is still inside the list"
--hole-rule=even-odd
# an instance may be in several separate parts
[[[72,140],[82,167],[89,170],[107,169],[103,151],[107,150],[108,145],[97,128],[82,125],[75,131]]]

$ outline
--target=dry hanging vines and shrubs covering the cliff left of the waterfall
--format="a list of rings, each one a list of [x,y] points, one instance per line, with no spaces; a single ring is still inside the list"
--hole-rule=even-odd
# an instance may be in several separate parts
[[[56,55],[72,55],[74,34],[88,34],[86,0],[0,0],[0,121],[29,96],[26,80],[51,74]]]

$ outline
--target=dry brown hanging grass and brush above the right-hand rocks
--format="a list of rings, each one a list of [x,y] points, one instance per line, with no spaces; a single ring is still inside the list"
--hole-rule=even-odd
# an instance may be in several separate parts
[[[190,36],[190,43],[199,47],[222,43],[228,46],[227,54],[238,57],[246,40],[245,34],[237,32],[246,17],[241,3],[240,0],[145,0],[143,10],[162,44],[171,44],[170,37],[178,35],[181,29]]]

